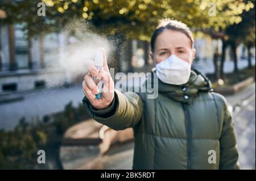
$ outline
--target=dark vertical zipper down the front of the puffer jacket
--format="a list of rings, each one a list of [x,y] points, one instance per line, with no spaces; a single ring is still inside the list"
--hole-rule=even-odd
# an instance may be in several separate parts
[[[187,169],[191,170],[191,119],[189,116],[188,108],[185,104],[182,104],[184,115],[185,115],[185,125],[187,134]]]

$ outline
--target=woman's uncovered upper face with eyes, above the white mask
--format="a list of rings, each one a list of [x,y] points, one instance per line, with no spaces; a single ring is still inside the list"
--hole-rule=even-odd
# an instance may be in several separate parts
[[[187,35],[179,31],[164,30],[156,37],[152,58],[156,64],[159,64],[172,54],[175,54],[182,60],[192,64],[195,53],[196,49],[191,48],[191,40]]]

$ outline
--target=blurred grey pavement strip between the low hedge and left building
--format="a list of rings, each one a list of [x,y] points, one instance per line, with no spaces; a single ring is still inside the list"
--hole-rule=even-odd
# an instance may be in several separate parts
[[[77,106],[84,97],[81,86],[44,89],[19,95],[24,96],[24,100],[0,104],[0,129],[14,128],[21,117],[31,121],[36,116],[43,117],[63,111],[65,105],[71,101],[73,106]]]

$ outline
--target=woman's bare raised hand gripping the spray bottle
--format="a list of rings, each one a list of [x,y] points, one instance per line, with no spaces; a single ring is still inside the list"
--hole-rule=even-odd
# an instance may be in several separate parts
[[[102,48],[101,50],[104,55],[104,70],[100,70],[100,72],[98,72],[98,70],[94,66],[94,61],[89,60],[86,63],[86,67],[88,68],[88,74],[85,75],[84,81],[82,81],[82,90],[84,91],[86,98],[88,98],[90,103],[97,110],[109,107],[112,103],[112,100],[114,99],[114,82],[109,73],[105,50],[104,48]],[[98,94],[99,90],[91,76],[99,76],[101,81],[103,82],[102,96],[100,99],[95,99],[95,94]]]

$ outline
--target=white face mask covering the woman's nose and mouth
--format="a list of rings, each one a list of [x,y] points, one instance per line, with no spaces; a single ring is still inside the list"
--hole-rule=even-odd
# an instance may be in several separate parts
[[[158,78],[168,84],[183,85],[191,74],[191,64],[172,54],[166,60],[156,64]]]

